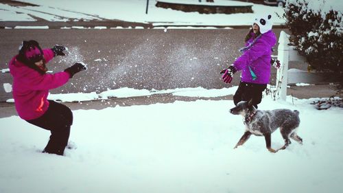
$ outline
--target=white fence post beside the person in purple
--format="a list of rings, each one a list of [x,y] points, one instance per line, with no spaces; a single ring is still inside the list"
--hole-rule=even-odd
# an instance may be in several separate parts
[[[280,32],[278,60],[281,63],[280,69],[276,73],[276,88],[280,89],[279,97],[286,100],[287,95],[287,71],[289,61],[289,35],[284,31]]]

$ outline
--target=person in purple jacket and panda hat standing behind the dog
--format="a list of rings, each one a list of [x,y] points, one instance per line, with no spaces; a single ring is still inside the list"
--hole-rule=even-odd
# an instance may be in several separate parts
[[[252,100],[252,104],[257,108],[257,104],[262,100],[262,92],[270,82],[270,55],[276,43],[271,18],[269,14],[255,19],[245,38],[246,47],[239,49],[241,56],[228,69],[220,72],[223,73],[223,81],[230,83],[233,74],[241,71],[241,82],[233,96],[235,105],[241,101]]]

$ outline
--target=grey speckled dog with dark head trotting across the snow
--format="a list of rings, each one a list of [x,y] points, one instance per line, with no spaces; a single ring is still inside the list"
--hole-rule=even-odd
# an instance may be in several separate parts
[[[239,139],[237,145],[243,145],[250,137],[250,135],[264,136],[265,145],[270,152],[277,152],[284,150],[291,144],[289,137],[303,144],[303,139],[296,134],[296,128],[300,124],[299,111],[291,111],[289,109],[275,109],[272,111],[257,110],[252,105],[252,100],[246,102],[239,102],[233,109],[230,109],[233,115],[242,115],[244,117],[244,124],[246,125],[246,132]],[[280,128],[281,135],[285,140],[285,145],[274,150],[271,147],[271,135]]]

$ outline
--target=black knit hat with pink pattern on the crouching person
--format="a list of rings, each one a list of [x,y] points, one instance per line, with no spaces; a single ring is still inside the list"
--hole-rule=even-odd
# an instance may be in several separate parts
[[[23,41],[19,47],[19,59],[24,63],[36,63],[43,60],[43,50],[36,41]]]

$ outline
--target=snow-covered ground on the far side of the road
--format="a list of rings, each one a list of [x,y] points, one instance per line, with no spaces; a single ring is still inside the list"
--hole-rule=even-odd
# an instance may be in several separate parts
[[[119,19],[122,21],[153,23],[153,25],[251,25],[254,14],[270,13],[275,25],[285,23],[282,8],[254,4],[254,14],[199,14],[198,12],[182,12],[165,8],[157,8],[156,1],[149,1],[148,14],[145,14],[146,0],[22,0],[39,6],[14,7],[0,3],[0,21],[36,21],[32,16],[47,21],[90,21],[92,19]],[[198,0],[187,2],[198,3]],[[215,1],[222,4],[223,1]],[[224,1],[244,4],[239,1]],[[205,3],[205,2],[204,2]],[[31,16],[30,16],[31,15]]]

